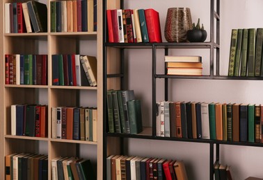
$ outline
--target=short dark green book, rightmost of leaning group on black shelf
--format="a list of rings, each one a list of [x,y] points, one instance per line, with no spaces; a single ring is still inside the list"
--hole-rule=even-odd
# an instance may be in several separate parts
[[[127,101],[129,112],[129,128],[131,134],[138,134],[143,131],[143,122],[141,115],[141,101],[129,100]]]

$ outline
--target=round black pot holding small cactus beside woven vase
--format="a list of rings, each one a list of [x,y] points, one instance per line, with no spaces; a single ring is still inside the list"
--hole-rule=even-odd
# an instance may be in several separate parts
[[[186,37],[189,42],[205,42],[205,39],[207,39],[207,31],[202,29],[188,30]]]

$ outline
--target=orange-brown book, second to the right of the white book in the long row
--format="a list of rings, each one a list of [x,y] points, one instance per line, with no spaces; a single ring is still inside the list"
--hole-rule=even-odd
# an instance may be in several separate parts
[[[215,104],[216,110],[216,140],[223,140],[223,118],[222,118],[222,104]]]

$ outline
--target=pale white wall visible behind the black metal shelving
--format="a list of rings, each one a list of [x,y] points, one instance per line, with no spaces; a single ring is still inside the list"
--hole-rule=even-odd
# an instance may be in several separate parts
[[[200,17],[201,23],[209,35],[209,0],[132,0],[125,1],[125,8],[154,8],[160,13],[161,32],[164,39],[164,23],[167,9],[170,7],[189,7],[193,21]],[[230,35],[232,28],[260,28],[262,21],[262,0],[222,0],[221,1],[221,75],[228,73]],[[209,37],[207,37],[209,40]],[[143,125],[151,125],[151,51],[127,51],[127,71],[129,84],[137,98],[143,102]],[[209,52],[206,50],[175,50],[170,55],[200,54],[204,63],[204,73],[208,73]],[[164,69],[164,51],[157,53],[157,71]],[[260,95],[263,84],[260,81],[241,80],[172,80],[169,100],[237,102],[263,104]],[[164,100],[163,80],[158,80],[157,100]],[[161,95],[160,95],[161,94]],[[186,163],[189,179],[209,179],[209,145],[202,143],[184,143],[170,141],[149,141],[131,139],[129,154],[158,156],[170,159],[183,159]],[[261,177],[263,156],[261,147],[221,145],[221,163],[232,166],[234,179],[246,179],[249,176]]]

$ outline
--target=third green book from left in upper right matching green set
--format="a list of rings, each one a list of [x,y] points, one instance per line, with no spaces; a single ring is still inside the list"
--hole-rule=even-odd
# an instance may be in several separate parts
[[[240,75],[246,76],[248,60],[248,29],[243,29],[242,43],[241,43],[241,67]]]

